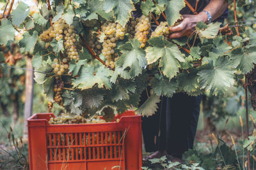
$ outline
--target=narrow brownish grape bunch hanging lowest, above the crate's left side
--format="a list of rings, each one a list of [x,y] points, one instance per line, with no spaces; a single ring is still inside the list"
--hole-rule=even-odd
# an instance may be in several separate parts
[[[63,99],[61,97],[62,89],[64,87],[64,81],[61,79],[61,76],[56,76],[56,84],[54,85],[54,101],[60,106],[63,106]]]

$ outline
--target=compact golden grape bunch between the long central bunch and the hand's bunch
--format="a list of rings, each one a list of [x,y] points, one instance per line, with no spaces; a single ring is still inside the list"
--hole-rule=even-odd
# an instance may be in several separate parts
[[[141,15],[140,18],[136,18],[135,26],[135,38],[137,38],[141,45],[140,48],[143,48],[146,45],[147,35],[150,31],[150,19],[145,15]]]

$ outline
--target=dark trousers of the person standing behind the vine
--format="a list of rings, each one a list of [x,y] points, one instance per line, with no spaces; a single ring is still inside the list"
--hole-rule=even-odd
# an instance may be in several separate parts
[[[184,93],[162,97],[157,113],[142,118],[142,131],[147,152],[166,150],[175,157],[193,148],[202,96]],[[157,143],[154,138],[157,138]]]

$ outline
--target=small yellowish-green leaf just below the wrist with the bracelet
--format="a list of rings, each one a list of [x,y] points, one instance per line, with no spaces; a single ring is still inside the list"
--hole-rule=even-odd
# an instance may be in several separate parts
[[[201,41],[204,42],[204,38],[215,38],[219,32],[220,25],[221,22],[212,22],[211,24],[207,25],[206,29],[197,29],[196,31]]]

